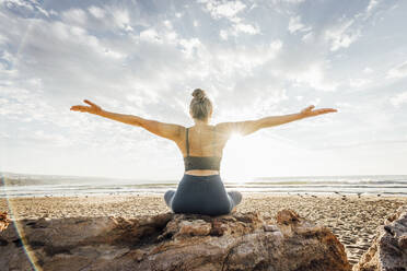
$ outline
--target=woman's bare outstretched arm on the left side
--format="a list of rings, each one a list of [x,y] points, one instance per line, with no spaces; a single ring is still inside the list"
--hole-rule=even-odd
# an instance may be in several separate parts
[[[181,137],[181,131],[183,130],[182,126],[178,125],[173,125],[173,123],[164,123],[160,122],[156,120],[150,120],[150,119],[144,119],[138,116],[133,115],[125,115],[125,114],[117,114],[117,113],[112,113],[112,111],[106,111],[102,109],[98,105],[84,99],[84,103],[89,104],[90,106],[84,106],[84,105],[74,105],[70,109],[74,111],[83,111],[83,113],[89,113],[93,115],[97,115],[104,118],[109,118],[126,125],[131,125],[131,126],[138,126],[142,127],[146,130],[170,139],[170,140],[178,140]]]

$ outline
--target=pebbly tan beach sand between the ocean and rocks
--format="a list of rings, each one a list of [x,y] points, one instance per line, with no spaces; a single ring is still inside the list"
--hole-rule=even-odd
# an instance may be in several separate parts
[[[329,227],[345,245],[353,264],[370,247],[375,228],[404,204],[407,204],[407,197],[243,193],[236,211],[259,211],[265,217],[274,217],[278,210],[292,209],[301,216]],[[0,199],[0,211],[9,211],[12,219],[20,220],[42,216],[133,217],[170,212],[170,209],[162,195],[131,195]]]

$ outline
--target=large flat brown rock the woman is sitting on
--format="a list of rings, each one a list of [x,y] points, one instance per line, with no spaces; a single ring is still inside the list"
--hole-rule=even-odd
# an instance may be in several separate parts
[[[0,235],[0,270],[33,270],[24,247],[38,270],[351,270],[328,228],[290,210],[276,220],[259,212],[21,220]]]

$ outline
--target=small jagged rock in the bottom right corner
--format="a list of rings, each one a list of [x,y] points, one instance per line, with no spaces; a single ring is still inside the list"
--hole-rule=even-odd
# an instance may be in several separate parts
[[[407,270],[407,205],[387,217],[377,228],[372,246],[362,256],[353,271]]]

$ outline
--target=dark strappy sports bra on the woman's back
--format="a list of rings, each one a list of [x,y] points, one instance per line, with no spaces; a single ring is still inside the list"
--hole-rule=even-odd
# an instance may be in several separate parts
[[[187,156],[184,157],[185,170],[190,169],[220,169],[220,162],[222,157],[218,156],[189,156],[189,142],[188,142],[188,130],[186,129],[186,149],[187,149]],[[213,134],[216,134],[216,130],[213,129]],[[214,140],[213,140],[213,153],[214,149]]]

